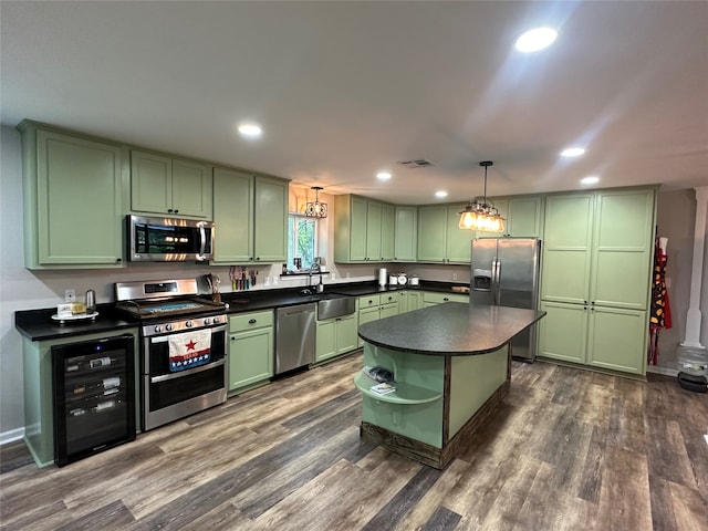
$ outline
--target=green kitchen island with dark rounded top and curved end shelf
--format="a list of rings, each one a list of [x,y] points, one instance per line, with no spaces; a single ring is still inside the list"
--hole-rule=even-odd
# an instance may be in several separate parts
[[[545,312],[448,302],[363,324],[364,365],[394,375],[378,394],[364,372],[362,437],[441,469],[509,393],[509,341]]]

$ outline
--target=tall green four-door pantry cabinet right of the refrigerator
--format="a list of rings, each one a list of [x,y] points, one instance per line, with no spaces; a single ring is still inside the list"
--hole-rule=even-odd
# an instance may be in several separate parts
[[[541,356],[644,375],[654,188],[546,197]]]

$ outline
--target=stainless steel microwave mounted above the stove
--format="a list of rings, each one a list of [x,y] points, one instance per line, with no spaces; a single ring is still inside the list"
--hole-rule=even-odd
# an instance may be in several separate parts
[[[215,225],[184,218],[127,216],[132,262],[204,262],[214,252]]]

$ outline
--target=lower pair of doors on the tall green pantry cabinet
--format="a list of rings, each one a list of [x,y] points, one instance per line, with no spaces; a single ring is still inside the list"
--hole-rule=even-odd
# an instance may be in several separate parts
[[[542,302],[539,355],[563,362],[643,375],[646,312]]]

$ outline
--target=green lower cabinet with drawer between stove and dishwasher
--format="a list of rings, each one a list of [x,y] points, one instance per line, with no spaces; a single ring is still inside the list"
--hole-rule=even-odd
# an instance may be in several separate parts
[[[229,317],[229,392],[273,376],[273,312]]]

